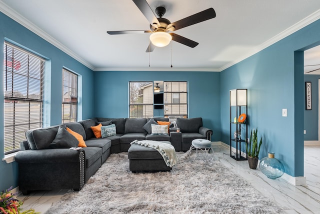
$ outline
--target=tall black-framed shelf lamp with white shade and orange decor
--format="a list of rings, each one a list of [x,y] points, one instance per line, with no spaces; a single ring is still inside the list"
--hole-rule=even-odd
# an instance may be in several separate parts
[[[247,89],[230,90],[230,157],[246,160],[247,126]],[[232,144],[235,152],[232,151]],[[245,152],[245,156],[241,153]]]

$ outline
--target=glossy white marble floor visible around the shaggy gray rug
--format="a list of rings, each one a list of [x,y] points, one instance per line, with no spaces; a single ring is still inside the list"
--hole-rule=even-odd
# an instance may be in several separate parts
[[[229,149],[213,145],[214,156],[234,171],[235,176],[246,179],[261,194],[283,207],[283,213],[320,213],[320,145],[304,146],[304,176],[306,185],[293,186],[282,178],[267,178],[257,167],[250,169],[247,161],[236,161],[229,156]],[[44,213],[67,189],[34,191],[27,196],[20,195],[23,209],[33,208]]]

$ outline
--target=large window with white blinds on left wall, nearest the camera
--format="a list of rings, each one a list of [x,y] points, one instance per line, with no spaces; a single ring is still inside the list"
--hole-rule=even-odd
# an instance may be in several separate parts
[[[42,127],[45,59],[4,42],[4,154],[19,150],[24,132]]]

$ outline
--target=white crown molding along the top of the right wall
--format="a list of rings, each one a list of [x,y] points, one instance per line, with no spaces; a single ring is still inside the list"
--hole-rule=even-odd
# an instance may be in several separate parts
[[[297,23],[293,24],[292,26],[288,27],[287,29],[283,30],[282,32],[278,33],[277,35],[273,36],[272,38],[266,40],[265,42],[263,42],[262,44],[258,45],[256,48],[252,49],[250,52],[248,52],[247,54],[244,54],[243,56],[241,56],[240,58],[220,67],[218,70],[222,71],[228,67],[231,67],[232,65],[250,57],[251,55],[254,55],[255,53],[263,50],[264,48],[274,44],[275,42],[285,38],[286,36],[298,31],[299,29],[307,26],[308,24],[318,20],[320,18],[320,9],[318,9],[317,11],[311,13],[310,15],[308,15],[307,17],[305,17],[304,19],[298,21]]]

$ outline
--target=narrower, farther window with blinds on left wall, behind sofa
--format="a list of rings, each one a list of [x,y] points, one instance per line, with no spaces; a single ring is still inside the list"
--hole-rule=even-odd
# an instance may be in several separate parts
[[[77,121],[78,75],[62,69],[62,123]]]

